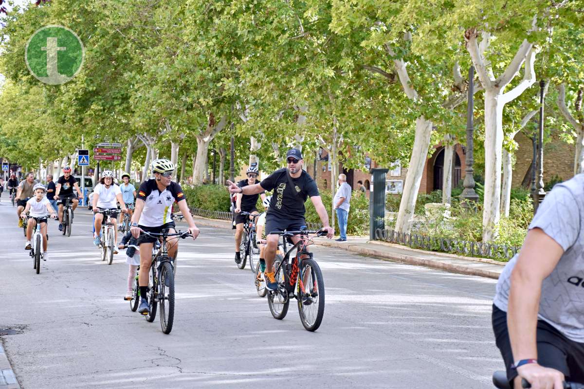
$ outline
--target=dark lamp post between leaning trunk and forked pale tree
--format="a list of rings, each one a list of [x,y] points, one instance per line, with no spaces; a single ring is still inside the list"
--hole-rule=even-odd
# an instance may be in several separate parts
[[[474,111],[474,67],[471,65],[468,69],[468,104],[467,104],[467,146],[465,151],[465,164],[464,169],[464,190],[460,194],[461,205],[466,209],[474,209],[472,203],[478,202],[478,194],[475,192],[475,182],[474,182],[474,169],[472,165],[474,164],[473,159],[473,111]]]

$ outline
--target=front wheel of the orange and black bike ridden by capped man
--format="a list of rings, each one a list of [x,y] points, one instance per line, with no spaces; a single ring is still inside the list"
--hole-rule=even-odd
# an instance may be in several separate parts
[[[298,313],[304,328],[316,331],[325,314],[325,282],[317,261],[303,260],[300,266],[297,280]]]

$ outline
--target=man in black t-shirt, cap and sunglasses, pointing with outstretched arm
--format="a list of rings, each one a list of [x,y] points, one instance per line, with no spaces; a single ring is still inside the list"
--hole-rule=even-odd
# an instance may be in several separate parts
[[[266,272],[264,274],[266,288],[270,290],[277,289],[273,264],[279,240],[279,235],[270,233],[284,230],[295,231],[306,226],[304,202],[308,197],[310,197],[321,219],[323,230],[326,230],[326,237],[331,239],[333,236],[333,229],[329,226],[328,215],[318,193],[317,184],[308,173],[302,170],[303,162],[300,150],[290,149],[286,153],[288,168],[274,171],[261,183],[240,188],[235,183],[227,181],[231,193],[252,195],[274,190],[270,208],[266,214],[267,246],[264,253],[266,257]],[[297,243],[299,239],[297,236],[292,237],[294,243]]]

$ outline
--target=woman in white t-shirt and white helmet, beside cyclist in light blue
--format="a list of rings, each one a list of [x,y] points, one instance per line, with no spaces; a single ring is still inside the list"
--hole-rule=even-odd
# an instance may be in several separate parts
[[[93,221],[93,226],[95,227],[95,232],[93,232],[93,244],[99,246],[99,232],[102,229],[103,213],[99,213],[98,208],[111,209],[115,211],[112,213],[112,223],[114,230],[114,246],[117,246],[117,202],[120,203],[121,212],[126,213],[126,204],[124,204],[124,199],[121,196],[120,187],[113,183],[113,171],[104,170],[102,173],[102,178],[99,180],[99,184],[96,185],[93,190],[93,212],[95,213],[95,220]],[[114,254],[117,254],[117,249],[114,248]]]

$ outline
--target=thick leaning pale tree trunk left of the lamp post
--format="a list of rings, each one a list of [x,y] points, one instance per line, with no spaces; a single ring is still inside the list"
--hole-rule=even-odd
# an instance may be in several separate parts
[[[418,199],[418,191],[426,164],[430,135],[432,135],[432,121],[420,116],[416,119],[416,136],[413,141],[412,157],[409,160],[404,193],[399,203],[398,217],[395,222],[395,229],[398,232],[409,233],[412,228],[413,211],[416,207],[416,199]]]

